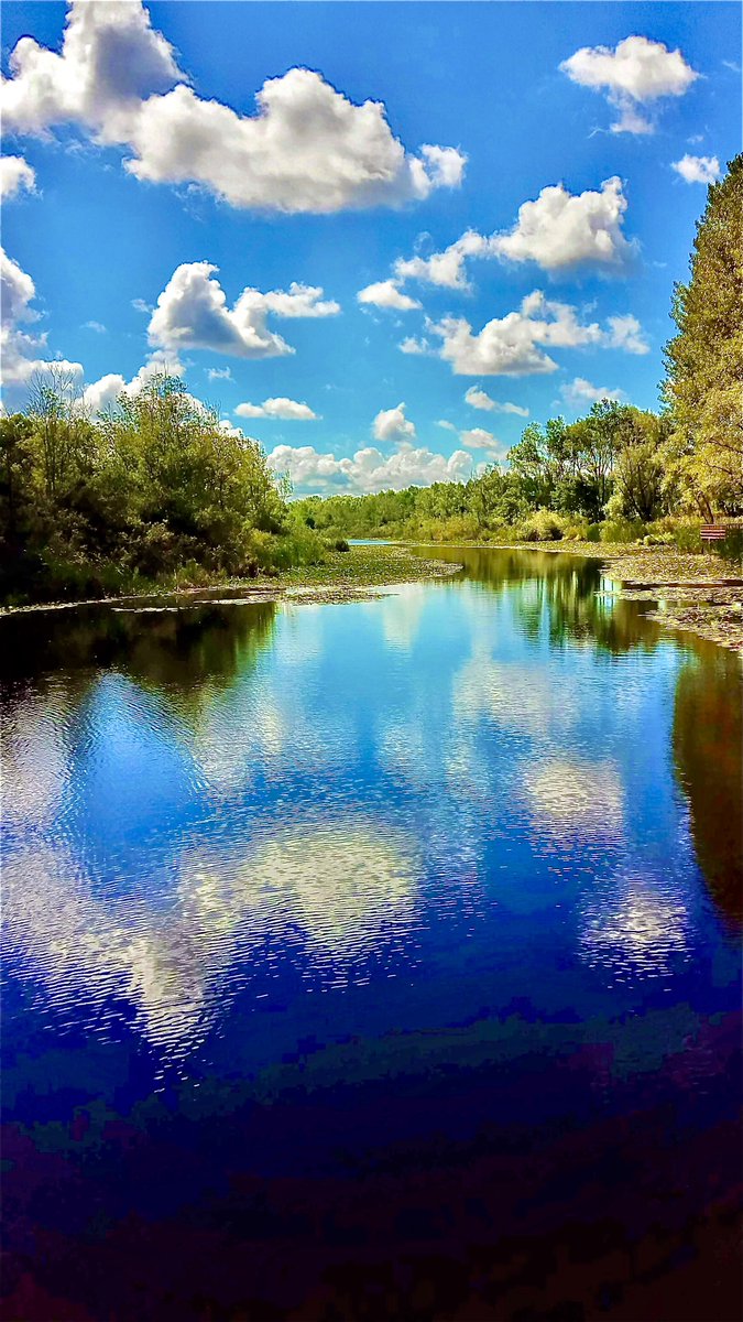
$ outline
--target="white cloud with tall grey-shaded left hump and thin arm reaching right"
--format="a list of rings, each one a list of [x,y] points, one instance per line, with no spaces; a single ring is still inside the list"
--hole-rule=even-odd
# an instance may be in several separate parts
[[[157,299],[148,327],[156,348],[212,349],[237,358],[272,358],[293,353],[291,345],[268,329],[270,313],[278,317],[328,317],[340,312],[337,303],[323,301],[323,290],[291,284],[288,291],[243,290],[234,308],[210,262],[185,262],[171,276]]]

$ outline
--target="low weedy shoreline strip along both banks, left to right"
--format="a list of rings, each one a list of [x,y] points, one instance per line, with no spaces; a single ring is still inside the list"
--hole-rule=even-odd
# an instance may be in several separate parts
[[[415,542],[383,541],[353,545],[350,551],[332,551],[324,564],[288,570],[276,578],[229,579],[208,586],[161,587],[124,596],[79,602],[38,602],[0,607],[0,619],[41,611],[65,611],[90,605],[114,609],[178,609],[241,602],[340,603],[357,600],[405,583],[430,582],[459,572],[461,564],[411,555],[407,547],[431,550],[542,551],[547,555],[579,555],[602,562],[608,579],[617,584],[617,598],[654,602],[646,613],[668,629],[743,653],[743,576],[726,572],[715,555],[678,551],[669,546],[639,546],[612,542]],[[385,564],[383,562],[387,562]]]

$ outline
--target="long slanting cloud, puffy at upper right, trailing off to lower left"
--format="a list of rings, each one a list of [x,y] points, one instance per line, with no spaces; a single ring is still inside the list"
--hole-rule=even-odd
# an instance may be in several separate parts
[[[397,287],[403,280],[424,280],[447,290],[469,288],[468,258],[535,262],[543,271],[595,266],[619,271],[637,250],[623,233],[627,198],[621,180],[604,180],[600,192],[570,193],[562,184],[543,188],[534,201],[522,202],[510,230],[484,235],[467,230],[443,253],[395,262]],[[372,286],[370,288],[377,288]]]

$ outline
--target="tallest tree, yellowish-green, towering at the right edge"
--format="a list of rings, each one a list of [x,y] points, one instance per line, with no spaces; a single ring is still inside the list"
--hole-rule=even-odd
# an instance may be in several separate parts
[[[668,344],[668,461],[706,518],[743,510],[743,155],[710,185],[689,284],[674,290]]]

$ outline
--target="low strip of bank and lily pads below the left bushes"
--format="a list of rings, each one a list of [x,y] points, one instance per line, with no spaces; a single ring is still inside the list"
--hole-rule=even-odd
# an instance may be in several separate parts
[[[184,602],[272,602],[283,596],[292,600],[345,602],[375,588],[395,587],[426,579],[448,578],[460,564],[412,555],[398,545],[352,546],[348,551],[328,551],[323,564],[304,564],[276,575],[259,574],[251,579],[222,579],[209,586],[167,587],[122,596],[103,596],[70,602],[34,602],[28,605],[0,607],[4,615],[38,611],[65,611],[79,605],[115,605],[134,609],[157,609]]]

